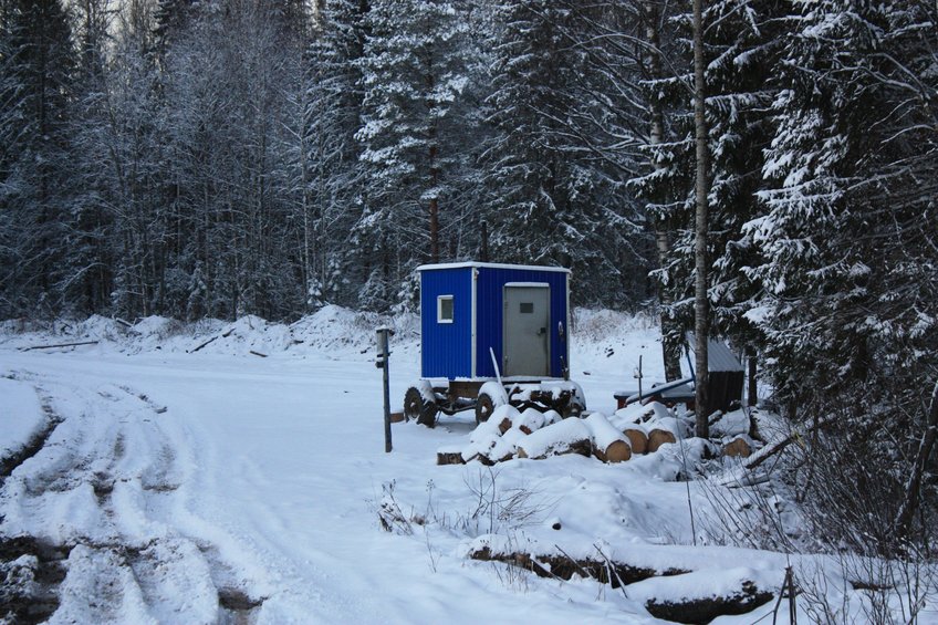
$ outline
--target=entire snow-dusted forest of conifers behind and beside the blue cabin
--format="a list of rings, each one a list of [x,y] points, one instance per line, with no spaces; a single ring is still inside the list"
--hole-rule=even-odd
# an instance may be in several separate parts
[[[484,258],[656,305],[673,363],[689,11],[0,0],[0,319],[388,312],[418,264]],[[938,4],[716,0],[702,41],[715,332],[815,433],[792,483],[848,521],[822,535],[930,549]]]

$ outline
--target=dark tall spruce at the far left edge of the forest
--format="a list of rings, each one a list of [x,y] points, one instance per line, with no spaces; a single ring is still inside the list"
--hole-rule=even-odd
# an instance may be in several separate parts
[[[0,227],[11,262],[0,269],[0,301],[14,314],[55,314],[69,275],[72,32],[59,0],[4,3],[2,19]]]

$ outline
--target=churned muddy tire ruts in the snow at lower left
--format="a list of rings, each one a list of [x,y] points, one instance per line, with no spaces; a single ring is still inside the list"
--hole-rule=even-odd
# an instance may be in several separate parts
[[[247,621],[263,600],[239,585],[211,543],[159,519],[185,503],[175,496],[185,479],[178,437],[156,423],[167,408],[126,386],[63,386],[55,395],[67,398],[67,414],[56,415],[44,396],[52,425],[3,476],[19,469],[0,491],[0,513],[13,521],[2,528],[0,566],[19,583],[0,607],[38,606],[38,617],[52,614],[52,622]],[[46,551],[67,556],[56,564],[58,579],[44,573],[52,561],[31,546],[46,542]],[[38,584],[43,576],[51,581]],[[46,596],[54,601],[43,603]]]

